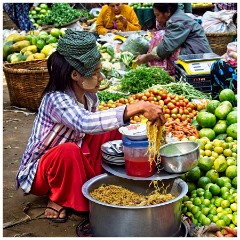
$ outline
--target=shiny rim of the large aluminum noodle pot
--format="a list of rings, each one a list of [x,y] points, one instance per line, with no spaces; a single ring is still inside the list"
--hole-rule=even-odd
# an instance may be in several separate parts
[[[146,208],[155,208],[155,207],[159,207],[159,206],[168,205],[168,204],[173,203],[173,202],[177,202],[178,200],[182,199],[188,192],[187,183],[184,182],[182,179],[177,178],[177,179],[175,179],[175,181],[177,181],[178,184],[181,186],[182,192],[177,197],[175,197],[174,199],[172,199],[170,201],[167,201],[167,202],[164,202],[164,203],[159,203],[159,204],[154,204],[154,205],[148,205],[148,206],[118,206],[118,205],[112,205],[112,204],[97,201],[96,199],[92,198],[91,195],[88,193],[88,187],[89,187],[90,184],[92,184],[94,182],[97,182],[99,179],[102,179],[103,177],[107,177],[107,176],[111,176],[111,174],[103,173],[103,174],[100,174],[96,177],[93,177],[93,178],[89,179],[87,182],[85,182],[83,184],[82,193],[91,202],[100,204],[102,206],[111,207],[111,208],[136,209],[136,210],[137,209],[146,209]],[[156,180],[158,180],[158,179],[156,179]],[[146,179],[146,181],[148,181],[148,180]],[[151,180],[149,180],[149,181],[151,181]]]

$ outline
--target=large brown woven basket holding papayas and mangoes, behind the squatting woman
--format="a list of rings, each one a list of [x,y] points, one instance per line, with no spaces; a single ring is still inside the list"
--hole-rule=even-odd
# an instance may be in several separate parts
[[[47,60],[33,60],[3,65],[12,106],[37,111],[48,84]]]

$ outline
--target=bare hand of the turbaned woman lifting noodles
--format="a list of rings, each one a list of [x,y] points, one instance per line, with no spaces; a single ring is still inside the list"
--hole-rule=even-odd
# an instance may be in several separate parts
[[[128,120],[136,114],[143,114],[152,124],[163,126],[166,122],[163,108],[150,102],[138,101],[128,104],[124,112],[124,120]]]

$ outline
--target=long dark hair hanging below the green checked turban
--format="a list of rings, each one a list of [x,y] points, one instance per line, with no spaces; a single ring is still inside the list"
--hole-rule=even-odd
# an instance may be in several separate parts
[[[71,87],[71,73],[74,70],[68,61],[58,51],[53,52],[47,60],[49,82],[43,95],[51,91],[61,91]]]

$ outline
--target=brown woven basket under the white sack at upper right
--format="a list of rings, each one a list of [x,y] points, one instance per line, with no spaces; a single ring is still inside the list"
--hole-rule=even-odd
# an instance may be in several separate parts
[[[227,52],[227,45],[233,42],[237,36],[236,32],[223,32],[223,33],[205,33],[212,51],[219,56]]]

